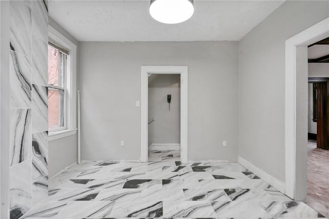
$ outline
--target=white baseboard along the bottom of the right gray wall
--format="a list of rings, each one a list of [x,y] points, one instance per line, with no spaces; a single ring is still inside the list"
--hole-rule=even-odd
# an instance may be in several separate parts
[[[248,170],[250,170],[251,172],[253,172],[254,174],[256,174],[257,176],[259,176],[263,181],[285,194],[285,183],[268,174],[264,170],[261,170],[260,168],[251,164],[249,161],[245,160],[245,158],[241,156],[237,156],[237,162]]]

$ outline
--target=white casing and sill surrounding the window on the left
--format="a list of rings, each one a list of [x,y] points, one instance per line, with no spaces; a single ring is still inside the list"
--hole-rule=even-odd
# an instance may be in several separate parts
[[[66,59],[66,92],[64,97],[65,128],[49,130],[48,141],[77,133],[77,46],[56,29],[49,27],[49,37],[69,50]]]

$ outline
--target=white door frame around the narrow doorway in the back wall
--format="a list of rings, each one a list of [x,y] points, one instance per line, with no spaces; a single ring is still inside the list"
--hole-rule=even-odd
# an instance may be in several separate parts
[[[148,161],[148,78],[149,74],[180,74],[180,161],[188,161],[188,67],[141,66],[140,161]]]

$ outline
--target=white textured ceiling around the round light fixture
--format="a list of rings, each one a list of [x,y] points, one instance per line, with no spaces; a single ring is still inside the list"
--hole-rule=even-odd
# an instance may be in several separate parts
[[[150,1],[49,1],[49,16],[78,41],[239,41],[284,1],[194,1],[186,22],[161,24]]]

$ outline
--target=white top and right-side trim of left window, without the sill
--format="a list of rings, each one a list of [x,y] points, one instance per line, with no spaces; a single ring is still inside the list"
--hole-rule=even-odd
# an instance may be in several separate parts
[[[77,45],[69,41],[63,34],[59,31],[48,26],[49,37],[54,39],[54,41],[59,42],[65,48],[69,49],[69,55],[67,55],[66,71],[66,128],[67,130],[77,128]]]

